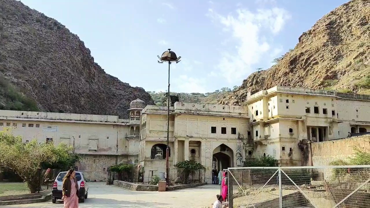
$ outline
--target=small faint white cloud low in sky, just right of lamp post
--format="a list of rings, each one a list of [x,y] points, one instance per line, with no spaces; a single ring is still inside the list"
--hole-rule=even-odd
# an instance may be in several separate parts
[[[181,93],[206,93],[204,79],[181,75],[176,78],[174,85],[176,86],[176,91]]]

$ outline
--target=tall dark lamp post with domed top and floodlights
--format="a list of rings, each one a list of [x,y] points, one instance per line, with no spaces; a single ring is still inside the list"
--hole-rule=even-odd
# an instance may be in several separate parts
[[[169,104],[169,68],[171,66],[172,62],[175,62],[176,64],[179,63],[181,60],[181,56],[177,57],[174,51],[171,51],[171,49],[168,49],[168,51],[165,51],[161,57],[157,56],[159,58],[158,63],[168,62],[168,91],[167,91],[167,149],[166,149],[166,184],[169,183],[169,161],[168,161],[168,155],[169,155],[169,107],[171,106]]]

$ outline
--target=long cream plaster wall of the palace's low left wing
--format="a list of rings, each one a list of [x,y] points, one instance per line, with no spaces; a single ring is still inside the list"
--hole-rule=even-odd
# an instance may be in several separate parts
[[[21,136],[24,142],[34,138],[39,142],[44,142],[47,138],[52,138],[55,145],[59,142],[74,145],[75,152],[81,154],[116,154],[117,145],[118,153],[138,154],[139,142],[137,140],[128,141],[125,138],[129,131],[126,125],[62,123],[43,120],[0,120],[0,125],[1,123],[3,126],[0,126],[0,129],[6,127],[7,123],[11,126],[16,125],[13,133]],[[96,140],[97,150],[89,151],[91,140]]]

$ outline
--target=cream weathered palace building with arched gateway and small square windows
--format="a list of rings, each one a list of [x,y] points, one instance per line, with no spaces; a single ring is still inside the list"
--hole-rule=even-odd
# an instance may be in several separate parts
[[[165,99],[164,99],[165,100]],[[239,167],[257,155],[280,165],[302,165],[302,141],[322,142],[370,131],[370,95],[276,86],[249,93],[242,106],[186,103],[170,96],[169,162],[196,160],[211,170]],[[127,120],[112,115],[0,111],[0,125],[13,126],[24,142],[65,142],[83,155],[77,165],[90,180],[104,180],[107,167],[137,163],[165,177],[167,104],[131,102]]]

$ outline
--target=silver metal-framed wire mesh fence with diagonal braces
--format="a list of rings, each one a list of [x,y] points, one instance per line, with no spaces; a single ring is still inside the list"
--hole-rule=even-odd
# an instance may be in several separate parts
[[[370,165],[228,169],[233,208],[370,207]]]

